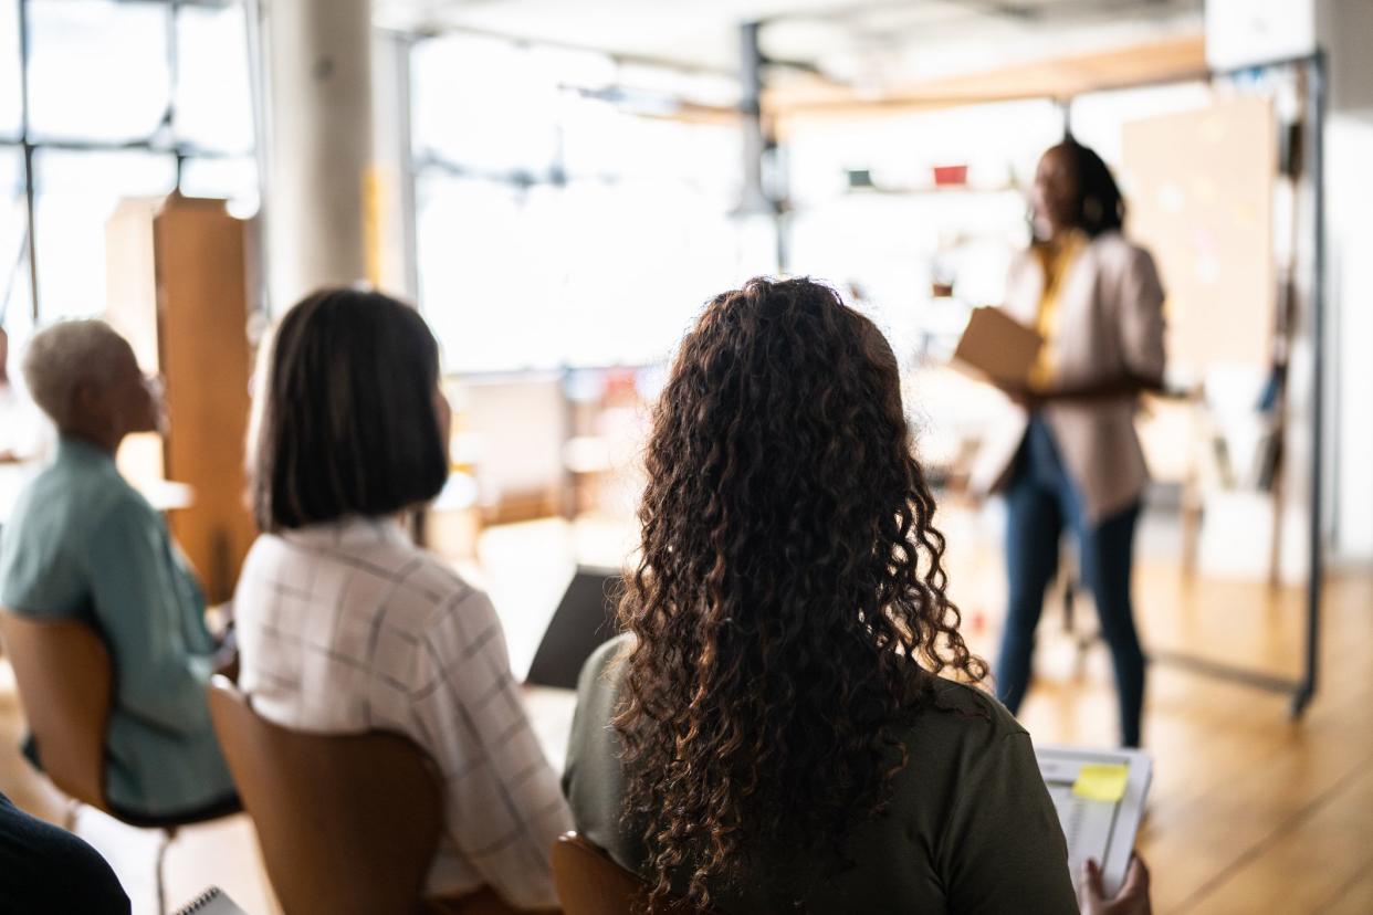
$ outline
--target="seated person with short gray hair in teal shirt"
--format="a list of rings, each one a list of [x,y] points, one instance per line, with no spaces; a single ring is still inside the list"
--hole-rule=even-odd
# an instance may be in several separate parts
[[[159,429],[157,385],[103,321],[41,331],[23,375],[59,442],[4,528],[0,605],[26,617],[84,620],[110,649],[113,807],[139,819],[228,807],[233,783],[206,706],[217,643],[205,598],[162,516],[114,464],[125,436]],[[41,764],[41,746],[26,752]]]

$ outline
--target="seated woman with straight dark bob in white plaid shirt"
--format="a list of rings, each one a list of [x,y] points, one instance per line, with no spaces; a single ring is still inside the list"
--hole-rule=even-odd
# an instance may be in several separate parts
[[[571,818],[500,620],[400,524],[448,477],[434,336],[394,299],[325,289],[281,318],[265,357],[253,443],[264,534],[235,594],[242,689],[286,727],[395,731],[428,752],[445,813],[430,897],[555,907],[549,853]]]

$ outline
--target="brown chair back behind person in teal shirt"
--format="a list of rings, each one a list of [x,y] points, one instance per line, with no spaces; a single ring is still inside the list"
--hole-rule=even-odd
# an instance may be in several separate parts
[[[99,634],[77,620],[34,620],[0,609],[19,702],[52,783],[108,811],[104,738],[113,665]]]

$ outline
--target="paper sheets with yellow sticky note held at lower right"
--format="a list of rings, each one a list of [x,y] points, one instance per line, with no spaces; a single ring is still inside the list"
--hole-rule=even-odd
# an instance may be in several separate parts
[[[1082,866],[1090,857],[1101,866],[1107,894],[1114,896],[1124,882],[1144,816],[1153,775],[1149,754],[1041,746],[1035,756],[1068,842],[1072,885],[1078,885]]]

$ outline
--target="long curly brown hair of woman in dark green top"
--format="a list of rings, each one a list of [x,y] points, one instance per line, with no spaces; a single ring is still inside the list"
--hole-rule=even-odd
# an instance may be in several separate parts
[[[755,840],[838,851],[906,765],[931,674],[986,664],[945,594],[897,359],[832,288],[754,278],[711,300],[647,471],[619,605],[625,823],[651,908],[682,885],[708,905]]]

